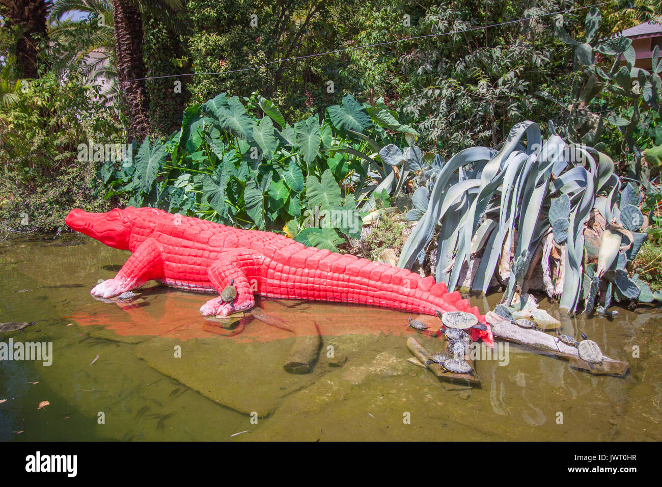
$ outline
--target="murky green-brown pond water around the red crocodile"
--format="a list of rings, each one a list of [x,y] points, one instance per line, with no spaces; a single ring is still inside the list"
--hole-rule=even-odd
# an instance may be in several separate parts
[[[481,387],[469,388],[407,361],[407,337],[431,351],[443,342],[399,311],[263,299],[263,314],[287,326],[246,319],[228,330],[200,315],[208,294],[150,283],[130,303],[92,298],[127,256],[70,234],[0,243],[0,322],[36,321],[0,343],[52,343],[50,366],[0,362],[1,440],[662,438],[659,309],[569,318],[544,300],[564,333],[585,332],[628,361],[628,375],[594,376],[509,344],[507,365],[475,362]],[[471,301],[485,313],[499,298]],[[297,337],[316,333],[312,372],[285,372]]]

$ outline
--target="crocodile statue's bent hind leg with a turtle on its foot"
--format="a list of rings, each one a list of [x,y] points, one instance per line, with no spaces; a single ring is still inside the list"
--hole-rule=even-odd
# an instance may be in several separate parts
[[[250,250],[222,252],[210,266],[207,276],[218,294],[232,282],[232,286],[237,290],[237,297],[232,303],[224,303],[220,297],[210,299],[202,305],[200,312],[205,316],[227,316],[237,311],[252,309],[255,306],[255,299],[249,276],[257,275],[260,261],[260,256]]]

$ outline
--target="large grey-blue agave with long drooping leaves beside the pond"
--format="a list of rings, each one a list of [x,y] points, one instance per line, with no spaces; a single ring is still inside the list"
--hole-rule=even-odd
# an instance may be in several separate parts
[[[590,313],[598,293],[598,311],[605,312],[612,295],[636,299],[647,288],[625,270],[646,237],[638,233],[639,190],[629,183],[621,192],[612,160],[597,150],[559,136],[542,140],[540,127],[526,121],[513,127],[498,151],[467,148],[430,182],[412,198],[407,219],[419,221],[402,249],[402,268],[436,250],[436,262],[430,261],[437,282],[485,293],[496,280],[510,305],[542,263],[545,291],[569,313],[582,301]],[[585,250],[589,219],[605,222],[597,266]],[[550,265],[553,248],[561,257]]]

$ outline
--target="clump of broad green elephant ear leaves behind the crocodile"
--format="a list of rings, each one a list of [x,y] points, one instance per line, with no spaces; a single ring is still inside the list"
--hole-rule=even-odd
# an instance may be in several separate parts
[[[387,132],[388,131],[388,132]],[[290,125],[259,96],[220,93],[185,109],[165,140],[134,142],[99,178],[133,206],[154,206],[245,229],[283,229],[306,245],[338,250],[357,238],[361,218],[396,195],[422,158],[418,134],[383,100],[346,94],[323,117]],[[405,142],[406,141],[406,142]]]

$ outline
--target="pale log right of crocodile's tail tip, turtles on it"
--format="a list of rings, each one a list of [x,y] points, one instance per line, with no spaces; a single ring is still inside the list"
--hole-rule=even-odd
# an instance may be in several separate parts
[[[628,373],[628,369],[630,368],[628,362],[622,362],[606,355],[602,358],[602,364],[593,364],[593,368],[591,368],[587,362],[579,358],[579,352],[576,347],[566,345],[553,335],[518,327],[491,311],[485,315],[485,318],[492,325],[492,333],[495,337],[528,345],[544,352],[544,354],[563,358],[564,360],[568,360],[572,367],[585,370],[591,374],[622,377]]]

